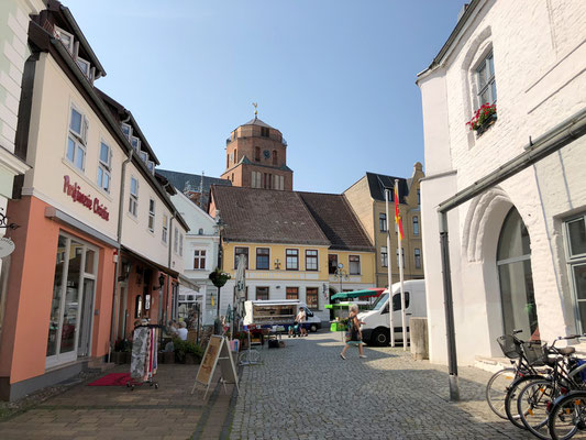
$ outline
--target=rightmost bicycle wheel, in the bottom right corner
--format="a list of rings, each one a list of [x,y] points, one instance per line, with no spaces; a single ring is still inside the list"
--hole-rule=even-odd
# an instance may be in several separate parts
[[[548,426],[553,440],[586,439],[586,392],[560,397],[551,409]]]

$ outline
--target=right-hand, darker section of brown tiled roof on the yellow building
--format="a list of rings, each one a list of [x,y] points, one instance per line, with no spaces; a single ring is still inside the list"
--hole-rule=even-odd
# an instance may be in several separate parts
[[[341,251],[373,252],[374,248],[346,198],[338,194],[298,193],[331,243]]]

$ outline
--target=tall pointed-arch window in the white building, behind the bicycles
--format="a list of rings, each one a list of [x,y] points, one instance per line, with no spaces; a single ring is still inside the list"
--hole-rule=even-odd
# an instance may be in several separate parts
[[[505,334],[522,329],[524,339],[539,339],[531,242],[523,220],[515,208],[507,215],[500,230],[497,267]]]

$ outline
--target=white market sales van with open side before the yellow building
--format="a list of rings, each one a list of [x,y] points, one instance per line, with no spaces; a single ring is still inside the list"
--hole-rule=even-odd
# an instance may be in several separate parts
[[[297,299],[281,300],[248,300],[244,302],[244,326],[254,324],[261,328],[283,327],[280,331],[287,331],[294,324],[299,309],[306,310],[305,328],[310,331],[321,329],[321,319],[308,309],[307,304]]]

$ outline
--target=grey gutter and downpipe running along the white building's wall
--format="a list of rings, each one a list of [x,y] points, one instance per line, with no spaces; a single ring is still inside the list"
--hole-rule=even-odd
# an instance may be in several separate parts
[[[460,385],[457,378],[457,352],[454,327],[454,305],[452,296],[452,274],[450,271],[450,242],[447,234],[447,212],[462,204],[490,189],[495,185],[515,176],[549,155],[562,150],[586,134],[586,109],[575,113],[562,123],[555,125],[545,134],[539,136],[524,147],[524,152],[499,166],[493,173],[476,180],[474,184],[457,191],[438,207],[440,221],[440,246],[442,256],[442,279],[444,289],[445,331],[447,340],[447,370],[450,383],[450,400],[460,400]]]

